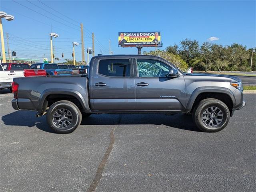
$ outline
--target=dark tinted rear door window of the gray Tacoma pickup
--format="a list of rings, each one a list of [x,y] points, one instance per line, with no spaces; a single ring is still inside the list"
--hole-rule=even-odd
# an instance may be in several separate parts
[[[129,59],[100,60],[98,73],[110,77],[130,77]]]

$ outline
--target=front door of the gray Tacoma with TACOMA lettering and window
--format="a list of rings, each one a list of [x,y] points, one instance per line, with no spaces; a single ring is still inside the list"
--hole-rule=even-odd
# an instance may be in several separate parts
[[[136,110],[180,111],[186,102],[183,75],[168,77],[172,65],[151,58],[135,62]]]

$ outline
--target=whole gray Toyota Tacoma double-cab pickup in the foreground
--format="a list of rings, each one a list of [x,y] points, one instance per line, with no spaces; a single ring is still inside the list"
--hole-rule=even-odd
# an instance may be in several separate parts
[[[155,56],[96,56],[88,76],[14,78],[16,110],[46,114],[50,128],[70,133],[82,116],[100,113],[186,113],[204,132],[225,128],[245,106],[239,78],[183,74]]]

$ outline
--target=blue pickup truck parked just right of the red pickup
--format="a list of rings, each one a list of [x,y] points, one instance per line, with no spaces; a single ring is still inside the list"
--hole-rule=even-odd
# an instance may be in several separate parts
[[[59,69],[57,64],[35,63],[30,66],[31,69],[44,69],[46,75],[72,75],[72,69]]]

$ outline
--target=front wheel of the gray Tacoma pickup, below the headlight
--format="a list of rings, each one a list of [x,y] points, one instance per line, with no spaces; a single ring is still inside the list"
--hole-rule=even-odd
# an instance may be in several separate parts
[[[226,104],[214,98],[200,101],[192,115],[194,123],[203,132],[218,132],[224,129],[230,118]]]

